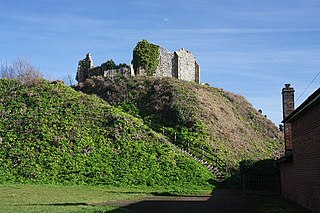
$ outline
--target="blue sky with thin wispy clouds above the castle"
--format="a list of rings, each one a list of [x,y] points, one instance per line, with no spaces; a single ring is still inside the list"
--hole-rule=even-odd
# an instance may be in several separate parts
[[[276,125],[284,84],[296,106],[320,85],[319,0],[1,0],[0,27],[1,63],[25,58],[49,80],[74,78],[88,52],[95,65],[130,64],[142,39],[185,48],[201,82],[244,96]]]

